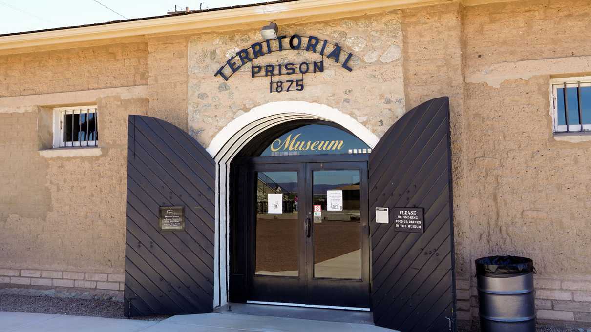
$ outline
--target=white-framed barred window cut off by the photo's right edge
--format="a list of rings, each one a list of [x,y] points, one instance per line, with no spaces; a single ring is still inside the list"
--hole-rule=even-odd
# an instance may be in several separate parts
[[[551,81],[554,133],[591,130],[591,77]]]

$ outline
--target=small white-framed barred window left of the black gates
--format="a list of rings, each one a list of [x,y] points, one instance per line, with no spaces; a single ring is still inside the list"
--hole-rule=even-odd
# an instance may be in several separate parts
[[[54,109],[54,147],[98,146],[96,106]]]

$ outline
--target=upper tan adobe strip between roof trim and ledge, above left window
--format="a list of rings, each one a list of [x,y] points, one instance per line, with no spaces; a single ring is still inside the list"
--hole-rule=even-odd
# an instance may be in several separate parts
[[[0,55],[0,97],[147,82],[145,42]]]

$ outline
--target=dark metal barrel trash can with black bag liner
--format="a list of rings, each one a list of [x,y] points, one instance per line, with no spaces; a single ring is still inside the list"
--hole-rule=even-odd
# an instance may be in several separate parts
[[[492,256],[476,259],[481,332],[535,332],[534,262]]]

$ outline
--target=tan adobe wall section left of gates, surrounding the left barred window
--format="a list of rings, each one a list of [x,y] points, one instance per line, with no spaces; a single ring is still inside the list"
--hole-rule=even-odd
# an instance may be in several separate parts
[[[0,55],[0,284],[122,288],[121,170],[127,115],[148,110],[147,44],[77,46]],[[80,104],[98,106],[100,149],[49,153],[51,107]]]

